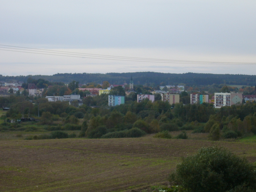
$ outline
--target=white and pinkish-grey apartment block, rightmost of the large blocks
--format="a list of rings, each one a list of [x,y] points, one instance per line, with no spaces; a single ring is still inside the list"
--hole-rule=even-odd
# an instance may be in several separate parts
[[[214,93],[214,107],[221,108],[231,106],[236,103],[242,103],[242,93]]]

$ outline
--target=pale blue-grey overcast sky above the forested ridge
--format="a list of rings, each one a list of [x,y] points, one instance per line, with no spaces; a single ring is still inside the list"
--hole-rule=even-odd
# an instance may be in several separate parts
[[[0,0],[0,75],[255,75],[255,10],[255,0]]]

